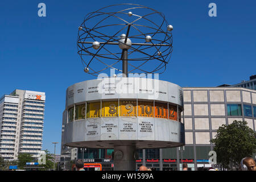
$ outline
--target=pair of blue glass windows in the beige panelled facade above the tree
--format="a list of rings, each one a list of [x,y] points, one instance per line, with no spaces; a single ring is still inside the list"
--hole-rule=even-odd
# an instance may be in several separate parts
[[[242,115],[242,107],[241,104],[228,104],[228,115],[232,116],[241,116]],[[253,108],[250,105],[243,105],[243,115],[247,117],[256,117],[256,106]]]

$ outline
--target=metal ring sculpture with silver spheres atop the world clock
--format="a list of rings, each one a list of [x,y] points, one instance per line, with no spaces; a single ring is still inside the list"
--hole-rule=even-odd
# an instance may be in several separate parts
[[[162,13],[146,6],[126,3],[89,13],[77,38],[84,71],[94,76],[108,68],[126,76],[163,73],[172,53],[172,30]]]

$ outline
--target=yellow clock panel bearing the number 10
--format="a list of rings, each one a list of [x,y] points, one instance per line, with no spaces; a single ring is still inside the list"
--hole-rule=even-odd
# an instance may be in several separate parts
[[[154,102],[138,101],[138,116],[154,117]]]

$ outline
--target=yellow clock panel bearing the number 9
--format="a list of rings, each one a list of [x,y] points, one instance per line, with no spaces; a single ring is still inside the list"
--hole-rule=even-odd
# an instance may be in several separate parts
[[[121,116],[136,116],[136,101],[120,101]]]

